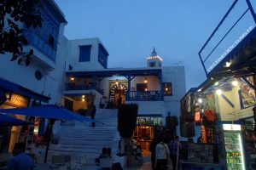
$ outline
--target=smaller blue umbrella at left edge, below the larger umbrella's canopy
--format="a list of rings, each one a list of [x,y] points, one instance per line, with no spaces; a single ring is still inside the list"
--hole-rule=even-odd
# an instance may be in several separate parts
[[[22,121],[20,119],[16,119],[15,117],[12,117],[12,116],[0,114],[0,127],[25,126],[25,125],[32,125],[32,123]]]

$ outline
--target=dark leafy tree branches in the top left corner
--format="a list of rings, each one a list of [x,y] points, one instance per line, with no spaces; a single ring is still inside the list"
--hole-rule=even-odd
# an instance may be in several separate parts
[[[41,8],[40,0],[0,0],[0,54],[12,54],[11,61],[30,64],[33,50],[23,52],[28,42],[22,28],[42,26]]]

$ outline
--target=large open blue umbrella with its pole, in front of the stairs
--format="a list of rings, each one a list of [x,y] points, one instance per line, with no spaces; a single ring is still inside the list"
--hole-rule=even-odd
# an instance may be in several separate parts
[[[43,105],[43,106],[36,106],[36,107],[21,107],[21,108],[14,108],[14,109],[0,109],[0,112],[3,113],[11,113],[17,115],[25,115],[25,116],[38,116],[49,118],[49,132],[51,134],[53,125],[56,120],[75,120],[81,122],[99,122],[94,119],[90,119],[86,116],[80,116],[79,114],[74,113],[73,111],[68,111],[64,107],[59,107],[56,105]],[[102,122],[101,122],[102,123]],[[45,149],[45,156],[44,162],[46,163],[48,150],[49,150],[49,139],[47,140],[47,146]]]

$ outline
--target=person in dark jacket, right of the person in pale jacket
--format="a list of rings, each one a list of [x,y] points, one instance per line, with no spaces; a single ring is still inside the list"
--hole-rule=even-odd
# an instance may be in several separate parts
[[[178,136],[175,136],[175,138],[172,139],[172,141],[170,142],[170,148],[172,158],[172,170],[176,170],[178,162],[177,151],[181,150],[181,145],[178,142]]]

